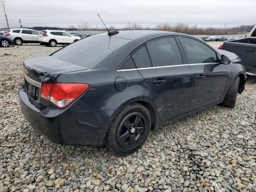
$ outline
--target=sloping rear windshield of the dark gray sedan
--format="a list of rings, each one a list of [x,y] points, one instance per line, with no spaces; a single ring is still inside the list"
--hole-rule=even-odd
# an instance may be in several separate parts
[[[65,62],[92,68],[111,52],[129,41],[121,38],[90,36],[60,49],[52,56]]]

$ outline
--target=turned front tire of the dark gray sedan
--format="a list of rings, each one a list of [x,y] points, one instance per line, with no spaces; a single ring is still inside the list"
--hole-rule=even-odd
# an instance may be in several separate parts
[[[236,106],[236,97],[238,93],[240,77],[236,77],[232,82],[228,92],[224,98],[223,105],[225,107],[234,108]]]

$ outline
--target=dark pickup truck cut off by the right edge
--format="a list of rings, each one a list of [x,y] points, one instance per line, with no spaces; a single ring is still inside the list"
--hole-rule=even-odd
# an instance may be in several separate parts
[[[237,54],[244,65],[246,74],[256,76],[256,26],[250,32],[248,38],[226,41],[218,49]]]

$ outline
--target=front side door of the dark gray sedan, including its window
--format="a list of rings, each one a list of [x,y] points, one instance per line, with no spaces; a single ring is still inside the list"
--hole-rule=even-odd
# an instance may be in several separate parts
[[[222,100],[228,73],[226,66],[220,64],[216,51],[195,38],[179,39],[195,78],[190,109],[195,110]]]

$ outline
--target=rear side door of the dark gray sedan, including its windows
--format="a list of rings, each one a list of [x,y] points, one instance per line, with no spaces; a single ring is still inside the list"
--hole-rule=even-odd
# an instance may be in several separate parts
[[[182,55],[174,37],[148,42],[132,54],[162,121],[189,111],[194,74]]]

